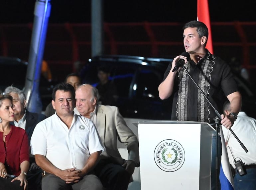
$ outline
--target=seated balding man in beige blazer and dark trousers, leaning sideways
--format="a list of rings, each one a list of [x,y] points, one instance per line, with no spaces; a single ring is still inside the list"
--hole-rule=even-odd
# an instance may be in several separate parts
[[[119,109],[115,106],[98,105],[97,88],[83,84],[75,91],[74,112],[89,118],[98,129],[105,147],[95,167],[96,175],[104,187],[111,190],[127,190],[134,168],[139,166],[139,143],[136,135],[126,125]],[[127,147],[129,158],[121,158],[117,139]]]

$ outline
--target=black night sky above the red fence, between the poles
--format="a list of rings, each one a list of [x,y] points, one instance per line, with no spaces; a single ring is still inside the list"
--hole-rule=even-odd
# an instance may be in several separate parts
[[[50,23],[89,23],[91,0],[52,0]],[[196,0],[105,0],[104,22],[196,20]],[[209,0],[211,22],[256,21],[253,1]],[[0,23],[32,23],[35,0],[1,0]]]

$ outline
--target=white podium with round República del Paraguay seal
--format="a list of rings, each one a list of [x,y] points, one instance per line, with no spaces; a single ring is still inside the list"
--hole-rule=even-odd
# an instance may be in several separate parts
[[[203,122],[138,122],[141,190],[210,190],[212,135]]]

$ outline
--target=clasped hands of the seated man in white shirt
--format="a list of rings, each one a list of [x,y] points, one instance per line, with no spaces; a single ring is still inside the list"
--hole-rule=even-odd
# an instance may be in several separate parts
[[[80,169],[70,168],[62,170],[58,177],[63,179],[66,183],[77,183],[85,173],[83,173]]]

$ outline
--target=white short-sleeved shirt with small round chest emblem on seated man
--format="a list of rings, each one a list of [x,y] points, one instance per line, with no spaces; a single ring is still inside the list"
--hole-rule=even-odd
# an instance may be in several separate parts
[[[37,124],[31,138],[31,153],[46,156],[62,170],[82,169],[90,154],[102,150],[93,122],[76,114],[70,129],[54,114]]]

